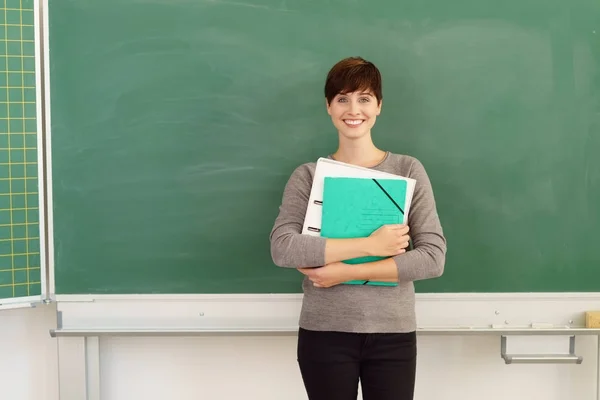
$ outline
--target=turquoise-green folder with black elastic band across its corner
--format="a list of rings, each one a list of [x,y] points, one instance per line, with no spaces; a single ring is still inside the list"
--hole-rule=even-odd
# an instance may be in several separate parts
[[[325,177],[321,236],[327,238],[367,237],[383,225],[405,222],[407,183],[401,179]],[[359,264],[386,257],[345,260]],[[353,280],[349,285],[397,286],[393,282]]]

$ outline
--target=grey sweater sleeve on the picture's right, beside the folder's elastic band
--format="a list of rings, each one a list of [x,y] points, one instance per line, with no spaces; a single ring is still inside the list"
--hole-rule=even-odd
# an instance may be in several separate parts
[[[436,278],[444,272],[446,238],[438,217],[429,176],[417,159],[409,176],[416,179],[408,215],[409,235],[413,249],[394,257],[399,281]]]

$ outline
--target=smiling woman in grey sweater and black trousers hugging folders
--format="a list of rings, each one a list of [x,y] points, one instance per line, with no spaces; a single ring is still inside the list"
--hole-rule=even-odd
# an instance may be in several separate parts
[[[325,98],[339,137],[331,158],[414,178],[416,186],[406,226],[386,225],[365,238],[328,239],[301,234],[316,163],[300,165],[289,178],[270,239],[275,264],[305,275],[297,349],[302,379],[310,400],[356,399],[359,380],[364,400],[412,399],[413,282],[439,277],[446,256],[431,184],[417,159],[373,143],[371,128],[382,106],[375,65],[360,57],[341,60],[327,75]],[[387,258],[342,262],[362,256]],[[341,284],[354,279],[398,284]]]

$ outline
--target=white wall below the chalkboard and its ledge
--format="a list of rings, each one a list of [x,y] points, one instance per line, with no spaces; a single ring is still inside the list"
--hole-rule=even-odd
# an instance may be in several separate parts
[[[54,313],[0,311],[2,399],[58,400]],[[294,337],[115,337],[100,345],[102,400],[306,399]],[[596,400],[596,337],[577,337],[582,365],[505,365],[499,349],[497,337],[420,336],[415,399]]]

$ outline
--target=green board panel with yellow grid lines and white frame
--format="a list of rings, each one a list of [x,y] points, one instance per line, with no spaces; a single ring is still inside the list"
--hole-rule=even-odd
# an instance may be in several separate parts
[[[43,300],[37,1],[0,0],[0,306]]]

